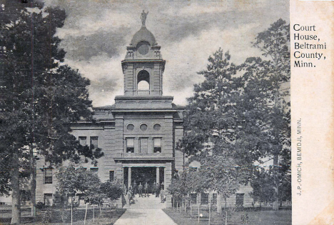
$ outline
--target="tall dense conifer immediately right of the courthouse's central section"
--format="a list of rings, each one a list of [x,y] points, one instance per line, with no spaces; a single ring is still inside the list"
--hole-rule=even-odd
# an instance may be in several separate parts
[[[236,140],[238,129],[238,105],[243,80],[236,75],[236,66],[230,63],[231,55],[222,49],[210,56],[207,69],[200,71],[206,79],[194,86],[195,94],[188,99],[185,124],[199,144],[213,142],[213,154],[226,154]],[[198,144],[188,142],[188,154],[198,154],[203,148],[191,148]],[[194,151],[196,150],[196,151]],[[201,152],[203,154],[208,151]]]

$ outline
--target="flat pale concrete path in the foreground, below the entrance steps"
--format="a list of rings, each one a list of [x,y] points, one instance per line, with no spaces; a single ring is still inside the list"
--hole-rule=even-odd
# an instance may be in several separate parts
[[[177,225],[162,209],[126,209],[114,225]]]

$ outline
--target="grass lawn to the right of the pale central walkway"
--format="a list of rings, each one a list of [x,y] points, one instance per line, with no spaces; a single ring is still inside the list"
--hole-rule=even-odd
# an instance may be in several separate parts
[[[163,211],[171,216],[171,219],[179,225],[193,225],[197,224],[198,214],[197,208],[193,209],[193,214],[190,216],[189,210],[184,213],[184,209],[180,212],[176,212],[173,209],[163,209]],[[208,211],[200,211],[200,223],[199,224],[208,224]],[[246,225],[241,221],[241,217],[248,216],[247,225],[290,225],[292,224],[291,210],[279,210],[279,211],[230,211],[228,214],[228,225]],[[225,218],[222,214],[217,214],[216,212],[211,213],[211,225],[221,225],[225,224]]]

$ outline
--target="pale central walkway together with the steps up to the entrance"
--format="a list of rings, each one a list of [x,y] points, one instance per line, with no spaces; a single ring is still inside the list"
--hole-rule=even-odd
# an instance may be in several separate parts
[[[126,212],[114,225],[177,225],[162,209],[166,204],[160,203],[160,198],[149,196],[138,198],[135,204],[126,205]]]

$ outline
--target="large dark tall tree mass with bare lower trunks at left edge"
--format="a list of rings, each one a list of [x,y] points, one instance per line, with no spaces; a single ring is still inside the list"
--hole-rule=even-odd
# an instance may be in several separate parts
[[[103,155],[101,149],[79,146],[70,134],[71,124],[91,120],[92,111],[86,89],[89,81],[59,64],[65,51],[59,49],[61,40],[55,34],[64,24],[65,11],[44,8],[39,1],[29,5],[33,11],[25,6],[21,1],[7,1],[1,6],[0,20],[1,82],[6,87],[6,111],[0,114],[1,157],[11,161],[12,224],[20,221],[20,159],[30,164],[34,210],[34,151],[54,164],[79,161],[81,156],[96,163]]]

